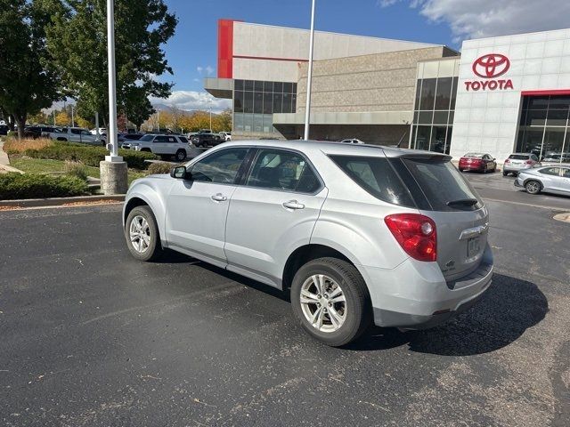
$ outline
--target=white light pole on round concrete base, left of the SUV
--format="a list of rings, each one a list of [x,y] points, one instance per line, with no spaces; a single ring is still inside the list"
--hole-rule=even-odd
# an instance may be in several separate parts
[[[107,0],[107,63],[109,73],[109,126],[107,146],[110,156],[100,163],[101,189],[107,194],[124,194],[128,188],[126,163],[118,156],[117,83],[115,76],[115,2]]]

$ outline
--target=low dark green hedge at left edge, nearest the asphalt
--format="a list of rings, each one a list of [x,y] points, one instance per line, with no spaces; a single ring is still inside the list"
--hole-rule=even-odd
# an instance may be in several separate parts
[[[36,173],[0,175],[0,200],[83,196],[87,192],[87,183],[75,176]]]

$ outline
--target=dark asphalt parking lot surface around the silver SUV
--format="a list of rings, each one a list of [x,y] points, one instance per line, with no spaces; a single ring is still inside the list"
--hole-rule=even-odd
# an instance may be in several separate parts
[[[0,212],[0,420],[61,426],[567,426],[570,224],[489,202],[493,286],[434,329],[333,349],[287,296],[130,257],[120,205]]]

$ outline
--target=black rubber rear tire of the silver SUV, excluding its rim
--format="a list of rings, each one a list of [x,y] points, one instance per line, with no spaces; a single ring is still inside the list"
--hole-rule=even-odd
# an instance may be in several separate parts
[[[305,281],[316,274],[324,274],[342,289],[346,298],[346,318],[336,331],[322,332],[314,327],[301,308],[301,288]],[[307,262],[297,270],[291,285],[291,305],[295,317],[305,332],[331,347],[339,347],[356,340],[371,325],[371,302],[368,288],[354,265],[337,258],[319,258]]]

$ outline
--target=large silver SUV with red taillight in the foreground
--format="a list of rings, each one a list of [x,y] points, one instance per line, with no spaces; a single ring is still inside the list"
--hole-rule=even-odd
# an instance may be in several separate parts
[[[123,212],[136,259],[170,248],[290,289],[333,346],[467,310],[491,285],[488,221],[449,156],[314,141],[224,143],[134,181]]]

